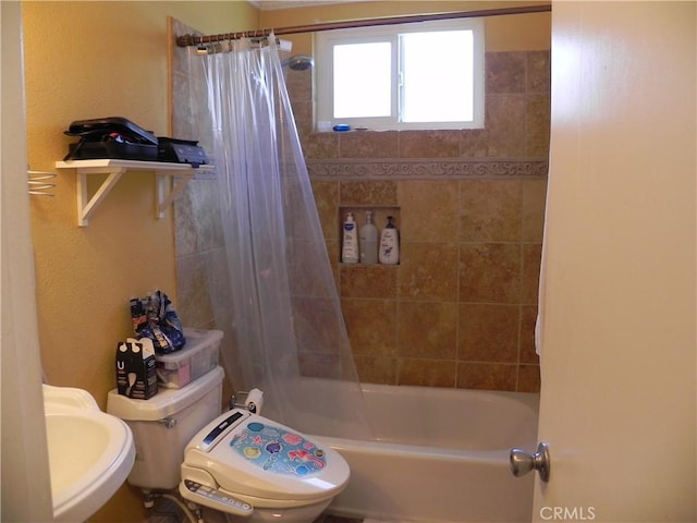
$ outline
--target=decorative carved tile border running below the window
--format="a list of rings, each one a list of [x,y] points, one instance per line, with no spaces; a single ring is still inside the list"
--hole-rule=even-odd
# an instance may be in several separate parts
[[[547,159],[328,159],[307,160],[313,180],[457,180],[466,178],[547,178]]]

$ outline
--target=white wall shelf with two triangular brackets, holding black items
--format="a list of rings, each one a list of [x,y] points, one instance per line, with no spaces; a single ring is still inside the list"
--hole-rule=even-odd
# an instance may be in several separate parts
[[[152,171],[155,172],[155,191],[157,193],[157,217],[163,218],[167,208],[174,202],[189,180],[197,172],[210,172],[211,166],[200,166],[193,168],[188,163],[169,163],[161,161],[139,161],[139,160],[66,160],[57,161],[56,169],[75,169],[76,193],[77,193],[77,224],[87,227],[89,217],[111,192],[121,175],[126,171]],[[106,180],[91,197],[87,192],[87,177],[89,174],[107,174]],[[174,185],[169,190],[170,178],[181,178],[175,180]]]

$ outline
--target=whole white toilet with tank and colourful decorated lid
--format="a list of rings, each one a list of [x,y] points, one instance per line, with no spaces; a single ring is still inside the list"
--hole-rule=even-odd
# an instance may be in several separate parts
[[[133,431],[129,484],[144,491],[179,489],[228,521],[310,523],[348,482],[333,449],[245,409],[220,414],[220,366],[179,389],[134,400],[114,389],[107,412]]]

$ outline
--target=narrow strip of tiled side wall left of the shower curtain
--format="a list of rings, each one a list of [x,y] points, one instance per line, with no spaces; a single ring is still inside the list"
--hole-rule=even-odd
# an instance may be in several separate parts
[[[175,19],[169,20],[172,35],[200,34]],[[172,136],[199,141],[210,154],[212,123],[207,110],[206,80],[198,60],[188,59],[193,48],[172,45]],[[201,132],[200,130],[208,130]],[[176,311],[187,327],[223,331],[221,354],[229,355],[223,398],[244,390],[239,365],[233,311],[228,299],[224,235],[219,214],[215,174],[196,173],[174,202],[174,250],[176,262]]]

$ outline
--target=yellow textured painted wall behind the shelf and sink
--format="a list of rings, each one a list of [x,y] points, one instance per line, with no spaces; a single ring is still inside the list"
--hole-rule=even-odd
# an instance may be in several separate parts
[[[220,33],[256,26],[258,13],[244,1],[23,3],[32,169],[53,170],[73,120],[122,115],[169,134],[168,16]],[[41,363],[50,384],[84,388],[106,408],[115,343],[131,333],[129,297],[159,287],[176,300],[172,214],[157,220],[154,174],[130,172],[80,228],[74,173],[57,183],[54,196],[30,199]],[[124,486],[91,521],[144,519]]]

